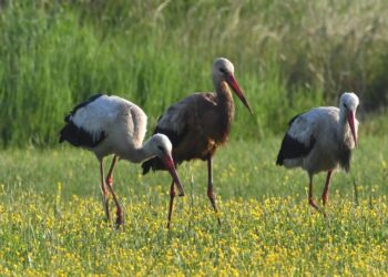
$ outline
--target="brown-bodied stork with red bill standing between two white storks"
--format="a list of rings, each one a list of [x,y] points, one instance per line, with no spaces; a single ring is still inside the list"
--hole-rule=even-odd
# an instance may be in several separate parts
[[[217,147],[226,143],[234,117],[234,102],[229,86],[237,94],[244,105],[251,111],[237,81],[234,78],[234,66],[225,58],[218,58],[213,64],[213,83],[216,93],[194,93],[173,104],[160,117],[155,132],[169,136],[173,144],[173,157],[176,164],[183,161],[201,158],[207,161],[207,196],[215,212],[215,195],[213,192],[212,156]],[[143,174],[150,168],[165,170],[159,157],[142,164]],[[173,201],[175,197],[175,181],[170,189],[170,227]],[[218,224],[219,224],[218,218]]]

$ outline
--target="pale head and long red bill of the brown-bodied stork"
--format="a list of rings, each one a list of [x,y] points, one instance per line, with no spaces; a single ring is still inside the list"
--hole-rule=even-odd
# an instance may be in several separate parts
[[[225,81],[252,113],[251,106],[246,101],[243,91],[239,89],[236,79],[234,78],[234,65],[229,60],[225,58],[215,59],[213,63],[213,80],[214,82]]]

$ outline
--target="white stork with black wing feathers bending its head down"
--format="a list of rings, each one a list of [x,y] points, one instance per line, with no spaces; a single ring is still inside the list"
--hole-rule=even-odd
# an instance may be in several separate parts
[[[96,94],[76,105],[64,121],[67,124],[60,132],[60,143],[68,141],[74,146],[92,151],[100,162],[101,189],[108,220],[109,193],[111,193],[116,205],[116,225],[123,223],[123,212],[113,191],[112,175],[118,158],[141,163],[157,156],[176,183],[180,196],[184,195],[171,155],[172,144],[169,137],[154,134],[143,144],[146,115],[137,105],[119,96]],[[114,156],[105,179],[103,158],[110,154]]]

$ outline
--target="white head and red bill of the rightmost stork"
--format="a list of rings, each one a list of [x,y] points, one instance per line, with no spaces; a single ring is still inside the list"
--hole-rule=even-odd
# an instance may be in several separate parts
[[[353,92],[345,92],[339,99],[339,109],[346,115],[348,121],[353,138],[357,145],[357,133],[356,133],[356,111],[359,104],[358,96]]]

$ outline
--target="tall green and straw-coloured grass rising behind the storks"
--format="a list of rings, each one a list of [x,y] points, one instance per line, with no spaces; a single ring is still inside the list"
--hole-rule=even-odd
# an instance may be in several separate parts
[[[278,134],[344,91],[359,113],[387,104],[385,1],[2,1],[0,142],[57,143],[63,116],[96,92],[164,109],[212,91],[216,57],[235,63],[236,137]],[[385,131],[387,129],[385,127]]]

